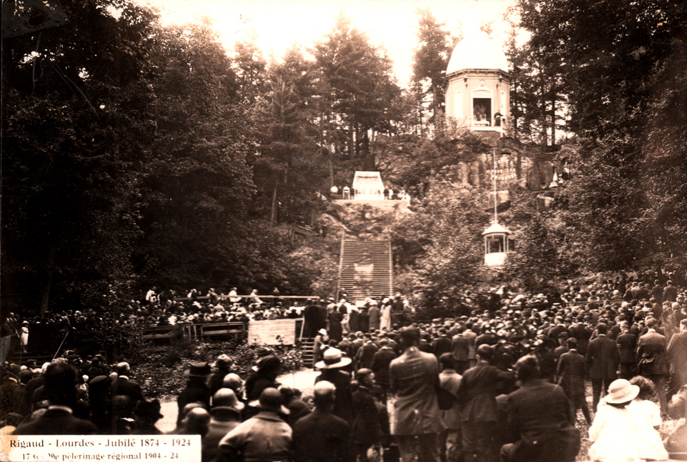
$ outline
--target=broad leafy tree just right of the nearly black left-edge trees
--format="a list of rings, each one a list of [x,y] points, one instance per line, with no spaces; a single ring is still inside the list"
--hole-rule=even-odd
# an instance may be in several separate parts
[[[153,122],[131,207],[143,231],[133,254],[143,287],[221,286],[240,253],[254,192],[243,95],[218,37],[203,25],[161,28],[150,60]],[[144,285],[145,284],[145,285]]]

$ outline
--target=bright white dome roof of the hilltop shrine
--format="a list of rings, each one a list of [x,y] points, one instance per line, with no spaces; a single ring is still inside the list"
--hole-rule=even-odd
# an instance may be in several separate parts
[[[455,45],[446,75],[463,69],[501,69],[508,72],[504,49],[484,32],[466,35]]]

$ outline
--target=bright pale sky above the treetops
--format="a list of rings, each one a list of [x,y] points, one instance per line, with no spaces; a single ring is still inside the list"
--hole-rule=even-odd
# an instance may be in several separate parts
[[[281,58],[293,42],[310,47],[334,26],[343,10],[353,25],[368,32],[372,42],[382,45],[394,61],[398,83],[406,86],[412,74],[413,49],[417,46],[416,9],[430,8],[439,22],[455,34],[477,30],[493,21],[493,38],[506,40],[506,8],[515,0],[137,0],[161,10],[163,23],[197,21],[196,14],[216,19],[227,50],[254,27],[265,56]]]

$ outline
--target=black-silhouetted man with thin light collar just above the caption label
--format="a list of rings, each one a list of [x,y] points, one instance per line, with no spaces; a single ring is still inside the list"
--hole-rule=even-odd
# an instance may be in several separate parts
[[[98,428],[90,421],[74,417],[71,408],[76,368],[66,362],[52,362],[45,375],[50,406],[37,419],[19,425],[14,435],[95,435]]]

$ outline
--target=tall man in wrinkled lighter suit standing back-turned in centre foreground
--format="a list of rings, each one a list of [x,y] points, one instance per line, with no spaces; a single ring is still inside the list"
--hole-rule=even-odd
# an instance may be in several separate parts
[[[416,327],[401,330],[401,343],[403,354],[391,362],[389,369],[390,389],[396,395],[392,435],[396,436],[403,462],[415,458],[416,439],[420,460],[439,462],[442,424],[434,388],[438,361],[433,354],[418,349],[420,331]]]

